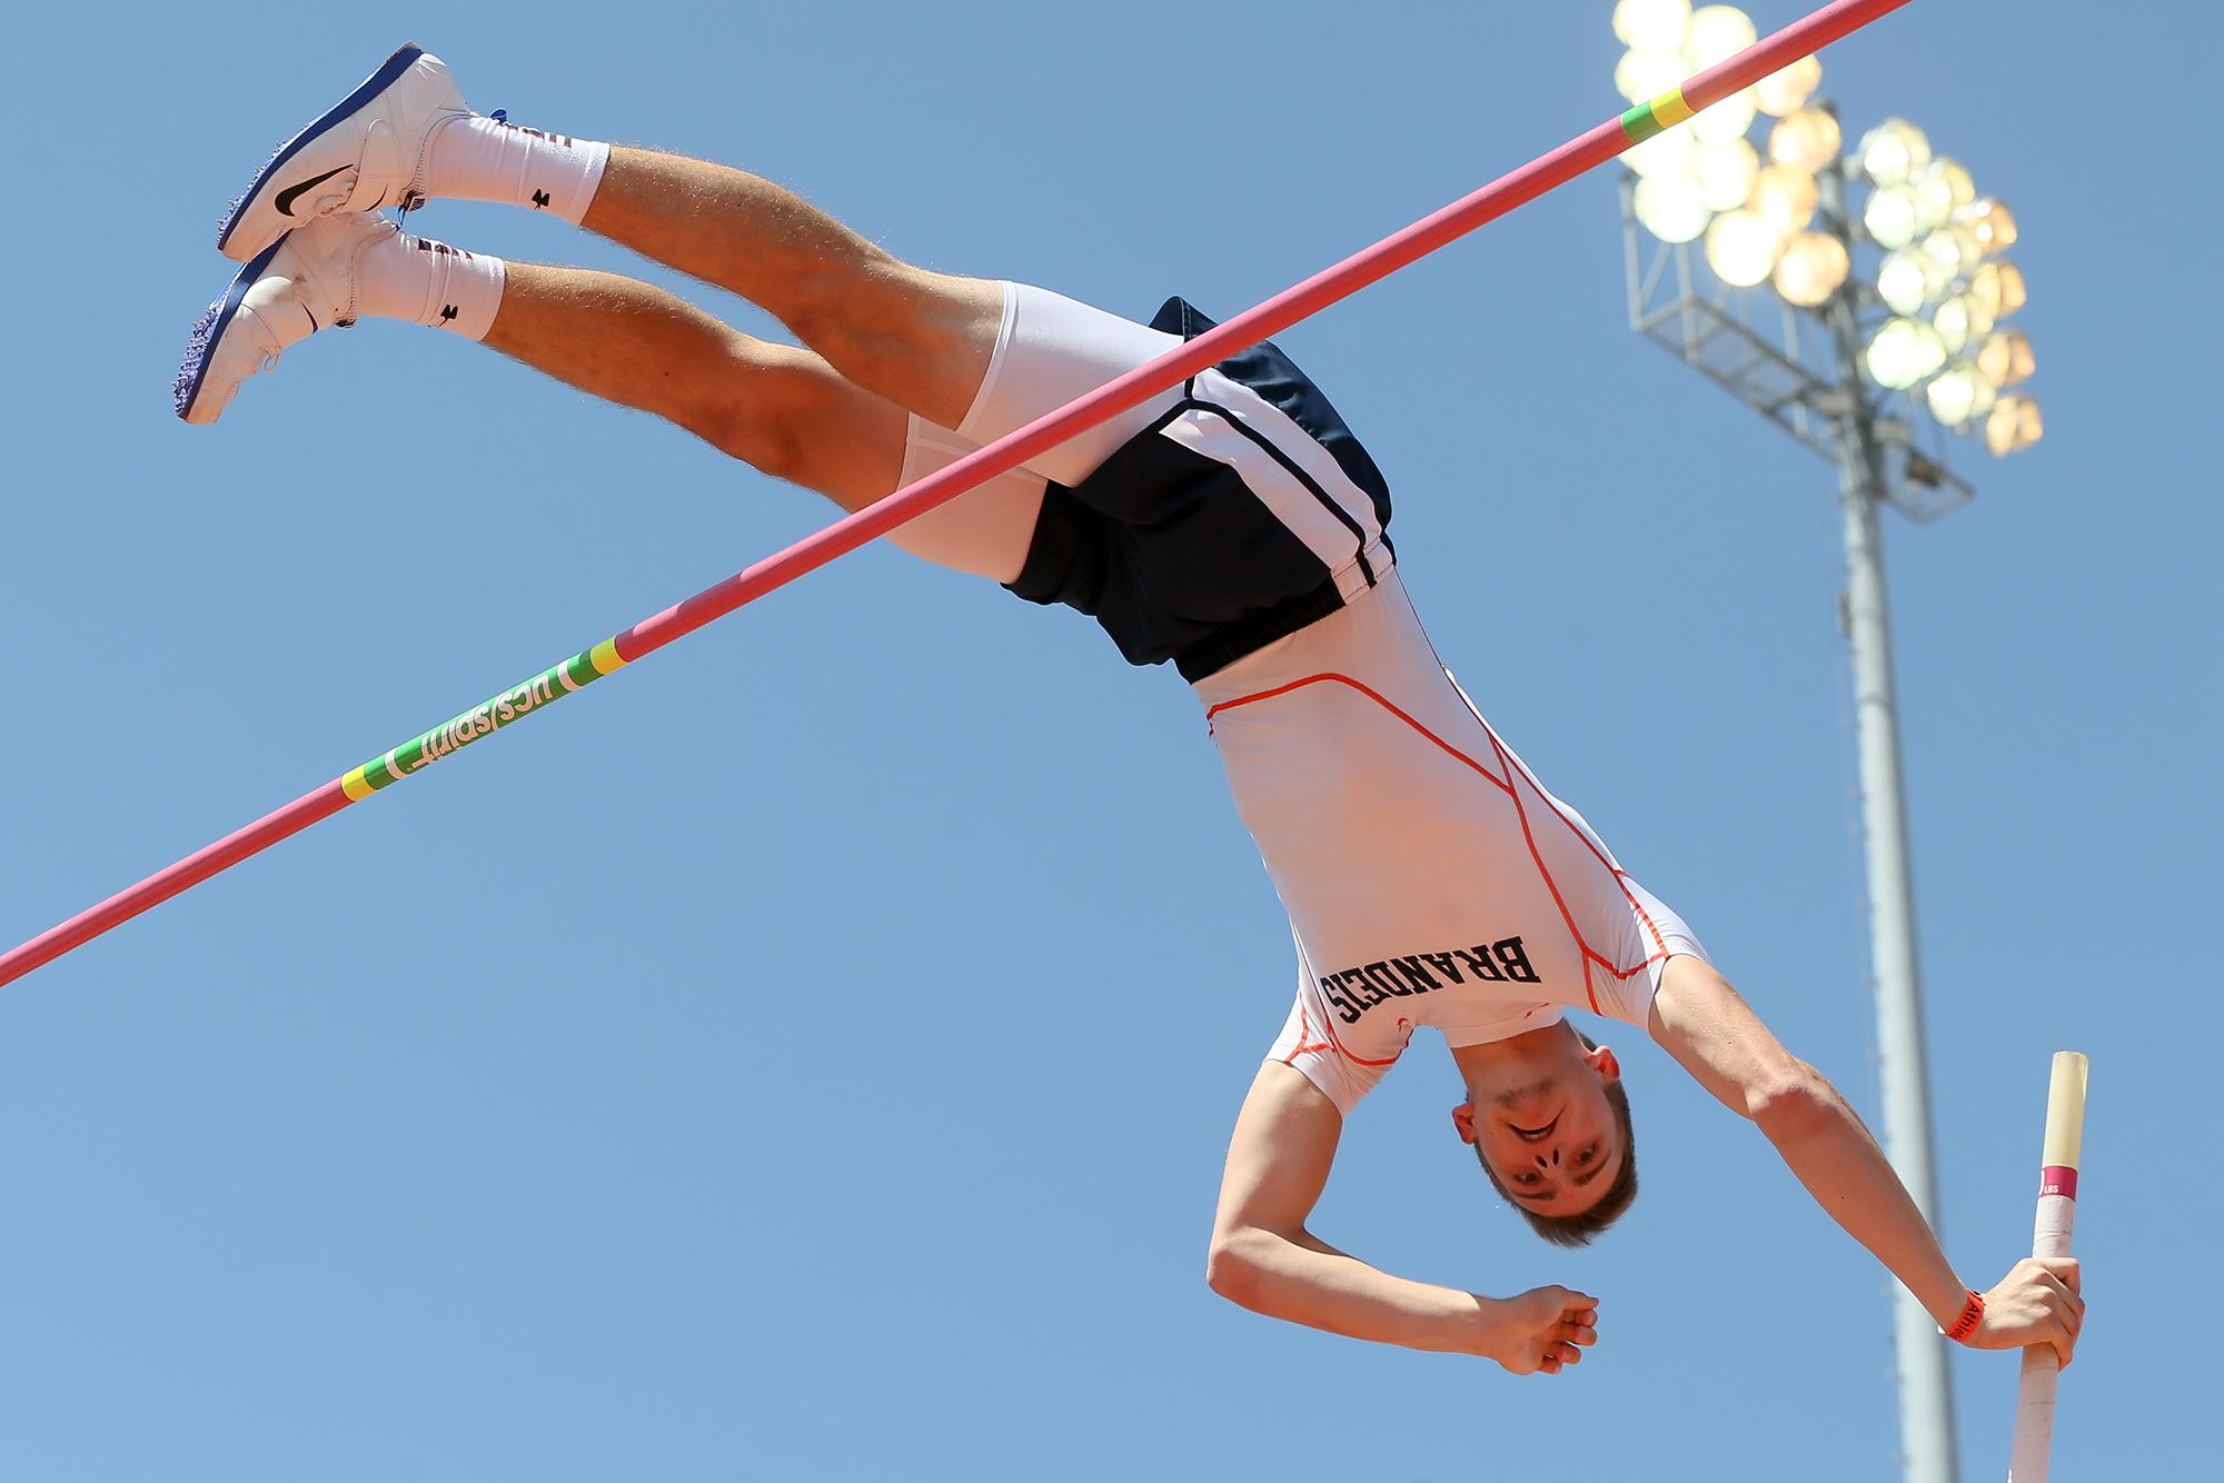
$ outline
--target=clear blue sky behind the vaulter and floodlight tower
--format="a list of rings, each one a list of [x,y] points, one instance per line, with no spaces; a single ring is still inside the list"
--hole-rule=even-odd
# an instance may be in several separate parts
[[[169,414],[265,149],[405,38],[480,109],[732,160],[916,260],[1225,316],[1619,107],[1606,0],[18,22],[0,938],[27,938],[827,518],[411,327]],[[1755,7],[1764,29],[1797,16]],[[2220,1196],[2200,387],[2213,18],[1917,0],[1826,53],[2004,196],[2048,438],[1888,520],[1946,1245],[2028,1250],[2093,1056],[2057,1476],[2173,1476]],[[2037,104],[2048,104],[2039,111]],[[556,222],[423,229],[645,271]],[[654,276],[654,273],[649,273]],[[763,329],[754,311],[689,289]],[[1875,1114],[1833,471],[1624,320],[1612,173],[1283,336],[1499,729]],[[7,1474],[1882,1479],[1884,1274],[1619,1036],[1628,1221],[1543,1247],[1421,1047],[1317,1230],[1604,1296],[1557,1381],[1203,1285],[1288,934],[1185,687],[872,547],[0,996]],[[1608,1036],[1617,1043],[1615,1036]],[[1964,1476],[2010,1356],[1955,1358]]]

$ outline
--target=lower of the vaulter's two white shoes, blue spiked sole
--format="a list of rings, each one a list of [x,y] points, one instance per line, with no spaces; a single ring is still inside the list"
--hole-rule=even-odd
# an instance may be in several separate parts
[[[262,249],[193,325],[178,367],[178,416],[214,422],[240,382],[276,367],[289,345],[329,325],[354,325],[356,265],[398,233],[376,211],[322,216]]]

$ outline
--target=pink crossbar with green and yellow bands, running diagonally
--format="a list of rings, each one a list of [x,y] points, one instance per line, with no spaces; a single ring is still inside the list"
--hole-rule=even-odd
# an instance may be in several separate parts
[[[200,885],[209,876],[238,865],[251,854],[269,849],[278,840],[300,834],[320,818],[329,818],[351,803],[363,803],[374,792],[407,778],[409,774],[438,763],[440,758],[471,745],[480,736],[529,716],[532,711],[569,696],[583,685],[592,685],[605,674],[641,656],[663,649],[674,638],[683,638],[714,618],[723,618],[743,603],[752,603],[774,587],[785,587],[805,571],[816,571],[836,556],[885,536],[905,520],[923,516],[936,505],[947,505],[967,489],[1007,474],[1074,434],[1103,422],[1116,411],[1125,411],[1190,376],[1250,349],[1259,340],[1319,313],[1328,305],[1350,298],[1359,289],[1388,278],[1463,238],[1477,227],[1492,222],[1515,207],[1537,200],[1583,171],[1612,160],[1630,145],[1652,138],[1661,129],[1675,127],[1699,109],[1721,102],[1730,93],[1746,89],[1768,73],[1797,62],[1810,51],[1859,31],[1868,22],[1897,11],[1908,0],[1837,0],[1806,20],[1797,20],[1775,36],[1746,47],[1728,62],[1710,67],[1668,89],[1650,102],[1639,102],[1619,118],[1581,133],[1552,153],[1539,156],[1486,185],[1483,189],[1454,200],[1434,216],[1423,216],[1412,227],[1394,231],[1374,247],[1346,258],[1328,271],[1314,273],[1294,289],[1283,289],[1257,309],[1234,316],[1217,329],[1208,329],[1188,345],[1170,349],[1156,360],[1141,365],[1119,380],[1090,391],[1056,411],[1027,422],[1019,431],[967,454],[950,467],[930,474],[916,485],[905,485],[878,505],[836,520],[816,536],[807,536],[776,556],[767,556],[747,571],[738,571],[696,596],[667,607],[654,618],[645,618],[616,638],[605,638],[585,654],[574,654],[565,663],[543,669],[523,685],[474,705],[445,725],[371,758],[342,778],[302,794],[276,814],[265,814],[256,823],[227,834],[207,849],[189,854],[176,865],[147,876],[127,892],[109,896],[98,907],[80,912],[60,927],[42,932],[22,947],[0,956],[0,985],[22,978],[33,967],[60,958],[71,947],[80,947],[118,923],[127,923],[147,907],[169,900],[178,892]]]

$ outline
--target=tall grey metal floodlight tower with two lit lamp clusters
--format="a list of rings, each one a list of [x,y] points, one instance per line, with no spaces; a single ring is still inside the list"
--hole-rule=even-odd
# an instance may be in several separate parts
[[[1730,4],[1619,0],[1615,36],[1628,47],[1615,87],[1639,102],[1750,47],[1755,27]],[[1630,327],[1839,469],[1884,1152],[1937,1230],[1879,511],[1928,522],[1973,496],[1946,467],[1946,431],[1982,427],[2010,454],[2042,422],[2010,391],[2033,371],[2031,340],[1999,325],[2024,305],[1999,256],[2015,218],[1906,120],[1846,156],[1835,109],[1810,102],[1819,82],[1810,56],[1624,153]],[[1746,138],[1757,113],[1773,120],[1764,149]],[[1855,182],[1870,187],[1859,216]],[[1857,256],[1873,267],[1855,271]],[[1897,1285],[1893,1336],[1904,1474],[1953,1483],[1944,1338]]]

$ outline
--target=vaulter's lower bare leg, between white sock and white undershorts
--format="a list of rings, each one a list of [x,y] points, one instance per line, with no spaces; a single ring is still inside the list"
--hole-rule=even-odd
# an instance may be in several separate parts
[[[485,342],[843,509],[890,494],[903,469],[903,407],[807,349],[754,340],[634,278],[509,262]]]

